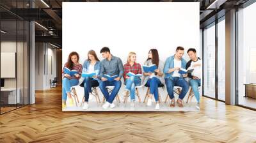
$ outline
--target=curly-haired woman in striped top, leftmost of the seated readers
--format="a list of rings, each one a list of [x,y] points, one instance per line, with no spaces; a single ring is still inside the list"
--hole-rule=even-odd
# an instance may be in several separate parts
[[[69,75],[65,73],[65,68],[76,72],[74,75]],[[79,79],[82,73],[82,64],[79,63],[79,54],[77,52],[71,52],[68,56],[67,63],[64,64],[62,70],[62,108],[67,107],[66,101],[68,96],[68,102],[70,106],[74,106],[72,96],[70,94],[70,87],[76,86],[79,83]]]

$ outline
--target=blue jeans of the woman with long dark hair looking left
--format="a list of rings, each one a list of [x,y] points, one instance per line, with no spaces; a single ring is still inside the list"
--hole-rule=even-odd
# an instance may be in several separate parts
[[[157,77],[153,77],[148,79],[146,85],[149,87],[149,93],[154,94],[155,100],[158,102],[158,87],[161,86],[161,81]]]

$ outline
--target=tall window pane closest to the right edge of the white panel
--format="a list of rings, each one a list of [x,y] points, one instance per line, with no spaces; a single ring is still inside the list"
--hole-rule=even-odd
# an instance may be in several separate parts
[[[204,29],[204,96],[215,98],[215,24]]]

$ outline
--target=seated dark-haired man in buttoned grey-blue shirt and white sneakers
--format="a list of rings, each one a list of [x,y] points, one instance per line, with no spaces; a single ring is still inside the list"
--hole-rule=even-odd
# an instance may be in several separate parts
[[[106,103],[102,105],[103,109],[108,109],[109,105],[111,108],[115,107],[115,104],[113,103],[113,100],[115,100],[116,94],[118,93],[122,82],[121,78],[124,73],[123,63],[122,60],[119,57],[113,56],[110,53],[110,50],[108,47],[103,47],[100,50],[100,54],[104,58],[100,63],[100,73],[99,73],[99,79],[100,79],[100,91],[106,98]],[[111,80],[111,78],[108,78],[106,75],[116,76],[115,79]],[[106,89],[106,86],[115,86],[111,94],[109,95],[108,89]]]

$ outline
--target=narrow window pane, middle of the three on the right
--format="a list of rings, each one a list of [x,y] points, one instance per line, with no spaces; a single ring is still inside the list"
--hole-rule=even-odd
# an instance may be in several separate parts
[[[225,17],[218,22],[218,99],[225,101]]]

